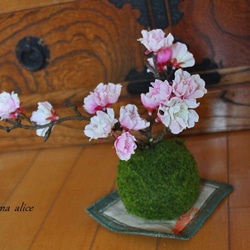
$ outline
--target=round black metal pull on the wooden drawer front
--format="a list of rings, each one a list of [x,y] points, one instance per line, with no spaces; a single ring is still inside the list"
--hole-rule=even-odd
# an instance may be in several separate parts
[[[16,57],[27,70],[36,71],[48,65],[49,49],[42,45],[43,40],[37,37],[24,37],[16,46]]]

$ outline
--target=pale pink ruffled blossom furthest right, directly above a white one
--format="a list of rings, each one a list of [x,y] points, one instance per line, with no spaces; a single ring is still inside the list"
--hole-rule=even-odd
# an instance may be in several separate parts
[[[175,72],[172,87],[173,93],[183,99],[201,98],[207,93],[205,82],[198,74],[190,75],[181,69]]]

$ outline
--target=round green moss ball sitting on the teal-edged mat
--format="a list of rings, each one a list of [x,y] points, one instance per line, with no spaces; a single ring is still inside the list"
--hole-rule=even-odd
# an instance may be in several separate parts
[[[119,161],[117,189],[127,211],[146,219],[173,219],[187,212],[199,194],[194,157],[180,140],[163,140]]]

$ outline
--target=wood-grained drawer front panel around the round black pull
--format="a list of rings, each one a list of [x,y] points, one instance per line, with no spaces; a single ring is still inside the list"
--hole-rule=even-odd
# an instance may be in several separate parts
[[[0,89],[28,95],[124,81],[132,68],[144,67],[139,15],[129,4],[117,9],[86,0],[0,16]],[[31,72],[18,63],[16,45],[27,36],[48,46],[45,69]]]

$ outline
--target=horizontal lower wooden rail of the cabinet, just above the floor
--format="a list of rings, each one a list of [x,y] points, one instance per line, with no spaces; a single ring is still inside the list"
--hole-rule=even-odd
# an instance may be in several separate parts
[[[52,104],[55,101],[55,109],[59,116],[74,114],[72,110],[63,108],[59,102],[63,102],[63,98],[77,103],[82,93],[86,93],[86,89],[57,91],[46,95],[29,95],[21,98],[23,107],[28,113],[31,107],[36,105],[37,101],[48,100]],[[47,99],[48,98],[48,99]],[[52,101],[51,101],[52,100]],[[180,136],[191,134],[204,134],[211,132],[238,131],[250,129],[250,83],[242,83],[236,85],[221,85],[208,87],[208,94],[204,96],[197,108],[200,116],[199,122],[194,128],[181,133]],[[140,104],[138,96],[131,96],[126,92],[126,83],[124,83],[124,91],[118,105],[125,105],[128,102],[135,103],[140,108],[142,116],[146,116],[146,111]],[[78,104],[81,112],[84,112],[81,104]],[[33,109],[35,110],[36,107]],[[119,109],[116,106],[116,113]],[[54,128],[50,139],[44,143],[43,138],[37,137],[35,131],[15,130],[6,133],[0,130],[0,151],[24,150],[35,148],[63,147],[69,145],[89,144],[88,138],[83,134],[84,126],[87,122],[66,122]],[[161,129],[159,125],[156,131]],[[169,134],[169,136],[171,136]],[[110,140],[105,142],[110,143]],[[92,140],[91,143],[99,143]]]

